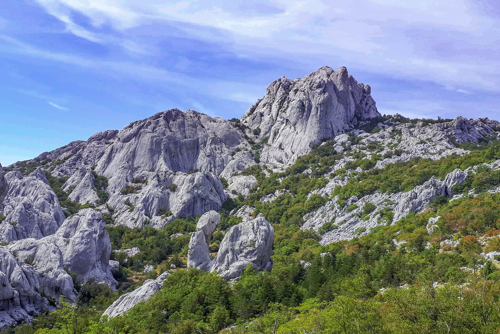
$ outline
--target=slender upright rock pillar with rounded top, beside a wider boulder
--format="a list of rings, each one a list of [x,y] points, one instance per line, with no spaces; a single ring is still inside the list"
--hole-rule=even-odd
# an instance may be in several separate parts
[[[189,239],[188,268],[195,267],[205,271],[210,269],[211,260],[208,243],[219,222],[220,214],[215,211],[208,211],[199,218],[196,224],[196,232]]]

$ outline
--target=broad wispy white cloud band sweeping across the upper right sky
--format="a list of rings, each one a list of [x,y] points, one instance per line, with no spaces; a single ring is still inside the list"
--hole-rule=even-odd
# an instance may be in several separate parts
[[[165,36],[170,34],[168,27],[175,26],[200,40],[225,43],[248,57],[265,55],[306,66],[321,60],[332,67],[345,65],[394,78],[458,86],[456,91],[500,89],[500,66],[493,57],[500,44],[497,34],[488,33],[498,29],[499,21],[464,0],[371,0],[362,6],[320,0],[179,0],[161,5],[149,0],[37,2],[63,22],[68,32],[95,43],[121,45],[130,52],[151,51],[134,42],[134,29],[155,23],[165,25]],[[264,5],[276,10],[262,13]],[[71,11],[86,16],[92,31],[76,24]],[[119,31],[119,36],[95,32],[104,25]],[[432,36],[430,42],[451,34],[452,46],[466,45],[471,54],[444,50],[445,55],[436,55],[425,37],[420,40],[427,33]],[[475,54],[474,46],[496,52]]]

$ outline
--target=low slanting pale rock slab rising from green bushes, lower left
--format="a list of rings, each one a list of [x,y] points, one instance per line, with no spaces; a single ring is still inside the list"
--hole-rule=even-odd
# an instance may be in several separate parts
[[[154,294],[154,292],[161,289],[163,281],[170,276],[168,271],[165,271],[156,279],[147,279],[144,283],[137,289],[121,295],[116,299],[102,314],[107,315],[108,318],[112,318],[123,314],[124,312],[130,310],[133,306],[137,305],[141,301],[147,301]]]

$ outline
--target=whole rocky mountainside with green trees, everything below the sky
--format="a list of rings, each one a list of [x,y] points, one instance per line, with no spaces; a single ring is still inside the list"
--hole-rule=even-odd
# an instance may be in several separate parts
[[[496,333],[499,136],[380,115],[322,67],[241,119],[172,109],[17,162],[0,326]]]

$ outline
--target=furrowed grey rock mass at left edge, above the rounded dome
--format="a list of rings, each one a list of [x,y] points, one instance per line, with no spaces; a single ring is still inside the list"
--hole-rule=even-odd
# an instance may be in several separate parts
[[[43,171],[38,168],[25,177],[17,171],[8,172],[5,179],[8,192],[0,213],[6,218],[0,224],[0,240],[40,239],[55,233],[64,213]]]

